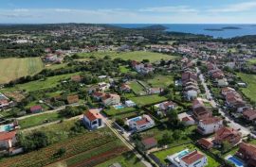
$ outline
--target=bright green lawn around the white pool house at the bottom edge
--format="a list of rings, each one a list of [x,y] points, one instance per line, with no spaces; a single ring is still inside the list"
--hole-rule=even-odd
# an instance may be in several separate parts
[[[162,163],[164,163],[167,156],[173,155],[174,153],[177,153],[184,149],[189,149],[190,151],[194,149],[200,150],[195,145],[190,143],[190,144],[183,144],[180,146],[169,148],[163,151],[155,152],[154,155],[156,158],[160,159]],[[208,165],[206,167],[217,167],[220,165],[220,163],[218,163],[215,159],[212,159],[210,156],[207,156],[207,159],[208,159]]]

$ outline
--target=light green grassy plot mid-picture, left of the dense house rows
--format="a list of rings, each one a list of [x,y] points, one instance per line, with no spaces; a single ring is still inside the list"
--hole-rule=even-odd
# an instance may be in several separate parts
[[[152,87],[165,88],[174,83],[173,75],[156,75],[153,79],[147,80]]]

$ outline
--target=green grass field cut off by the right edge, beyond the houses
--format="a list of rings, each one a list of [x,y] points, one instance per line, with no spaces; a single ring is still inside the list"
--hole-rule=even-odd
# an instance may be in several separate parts
[[[247,83],[247,88],[242,88],[242,92],[251,99],[251,101],[256,102],[256,75],[247,75],[243,73],[238,73],[237,75]]]

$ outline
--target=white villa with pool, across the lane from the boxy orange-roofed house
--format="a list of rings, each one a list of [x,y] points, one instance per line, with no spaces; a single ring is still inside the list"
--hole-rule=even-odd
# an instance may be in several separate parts
[[[155,122],[149,115],[142,115],[127,120],[127,125],[134,131],[141,131],[154,126]]]

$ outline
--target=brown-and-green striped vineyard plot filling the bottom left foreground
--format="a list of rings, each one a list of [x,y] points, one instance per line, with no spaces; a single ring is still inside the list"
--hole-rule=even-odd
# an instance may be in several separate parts
[[[95,158],[105,158],[107,156],[121,154],[126,151],[120,143],[118,138],[105,129],[104,133],[86,133],[80,136],[68,139],[63,142],[52,144],[46,148],[38,151],[33,151],[21,156],[13,158],[2,159],[0,161],[1,167],[40,167],[67,159],[67,163],[74,166],[78,163],[92,163]],[[54,155],[60,149],[66,150],[64,156],[55,157]],[[82,154],[84,153],[84,154]],[[111,153],[111,154],[110,154]],[[78,155],[78,156],[76,156]],[[80,155],[86,155],[79,157]],[[91,161],[90,159],[94,159]],[[101,162],[101,161],[100,161]]]

